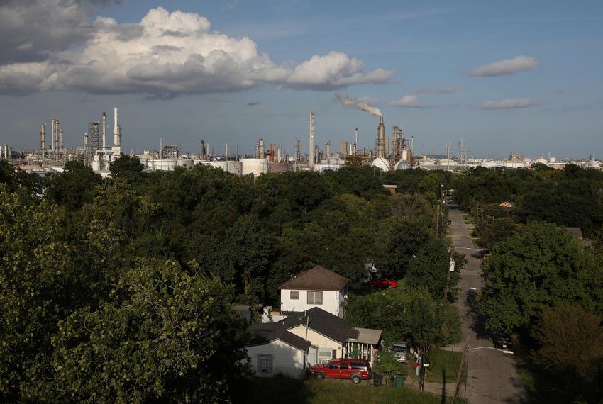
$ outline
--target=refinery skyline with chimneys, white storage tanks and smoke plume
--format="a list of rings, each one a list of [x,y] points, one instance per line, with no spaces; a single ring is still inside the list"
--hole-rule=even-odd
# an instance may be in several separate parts
[[[374,107],[358,103],[355,99],[341,99],[336,94],[338,101],[344,106],[351,106],[371,113],[378,119],[375,147],[360,149],[358,146],[358,129],[355,129],[353,140],[341,140],[339,150],[331,149],[331,141],[327,141],[323,148],[316,144],[316,113],[309,113],[309,135],[307,148],[297,138],[294,153],[284,152],[282,143],[266,143],[263,138],[255,143],[253,155],[240,154],[238,145],[228,149],[228,143],[219,145],[223,152],[214,153],[214,149],[204,140],[199,140],[199,152],[182,152],[180,145],[166,144],[164,138],[159,139],[158,147],[145,149],[142,154],[131,155],[138,157],[145,171],[171,171],[176,167],[192,168],[196,164],[207,164],[221,168],[226,172],[238,176],[253,174],[258,176],[269,172],[286,172],[297,170],[312,170],[324,172],[336,170],[346,164],[350,158],[354,164],[370,165],[383,172],[401,169],[442,169],[457,171],[469,167],[511,169],[529,168],[531,164],[541,163],[555,169],[563,169],[569,162],[581,167],[601,168],[601,162],[593,159],[563,160],[555,157],[539,156],[529,158],[517,153],[510,153],[508,159],[479,159],[470,157],[468,147],[463,141],[458,142],[457,155],[451,153],[450,143],[446,144],[446,154],[443,155],[414,155],[414,137],[410,140],[404,137],[401,125],[392,125],[391,138],[385,135],[385,120],[383,114]],[[58,118],[50,119],[47,123],[40,124],[40,138],[38,150],[32,152],[15,152],[10,145],[0,145],[0,159],[6,159],[28,172],[48,174],[62,172],[62,167],[68,161],[79,161],[101,176],[109,176],[111,163],[122,152],[122,128],[118,121],[118,109],[114,108],[113,119],[113,145],[107,142],[106,113],[101,114],[100,120],[92,120],[87,124],[87,131],[82,136],[82,145],[79,147],[66,147],[63,139],[64,133]],[[50,141],[47,142],[50,135]],[[222,149],[223,147],[223,149]]]

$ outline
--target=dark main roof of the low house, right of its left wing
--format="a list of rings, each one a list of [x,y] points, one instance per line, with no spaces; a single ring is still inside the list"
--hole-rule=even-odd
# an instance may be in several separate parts
[[[331,338],[331,340],[341,342],[342,344],[348,338],[358,337],[358,330],[355,330],[343,318],[326,312],[325,310],[315,307],[306,310],[306,313],[292,315],[288,318],[280,320],[285,329],[290,330],[298,325],[308,324],[310,330],[319,332],[320,334]]]

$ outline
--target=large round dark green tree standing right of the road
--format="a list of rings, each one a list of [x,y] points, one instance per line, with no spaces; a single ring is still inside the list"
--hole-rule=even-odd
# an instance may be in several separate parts
[[[576,240],[548,223],[530,223],[492,249],[482,271],[481,312],[489,330],[528,327],[556,303],[592,306],[585,256]]]

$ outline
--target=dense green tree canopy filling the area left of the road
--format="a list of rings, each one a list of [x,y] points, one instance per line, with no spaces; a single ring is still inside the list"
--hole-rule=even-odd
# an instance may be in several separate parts
[[[108,179],[77,162],[43,180],[0,162],[0,181],[8,402],[236,399],[248,335],[232,303],[278,306],[277,287],[316,264],[353,286],[369,263],[402,279],[444,245],[439,183],[390,196],[370,167],[253,178],[202,165],[145,173],[121,157]],[[419,288],[406,303],[426,320],[405,330],[430,344],[436,303]]]

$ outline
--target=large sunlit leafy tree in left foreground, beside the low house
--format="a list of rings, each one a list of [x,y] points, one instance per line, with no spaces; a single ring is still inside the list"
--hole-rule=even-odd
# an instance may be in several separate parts
[[[231,400],[248,376],[245,321],[218,279],[175,262],[126,269],[98,310],[59,322],[55,378],[40,400],[199,403]],[[35,397],[36,398],[36,397]]]

